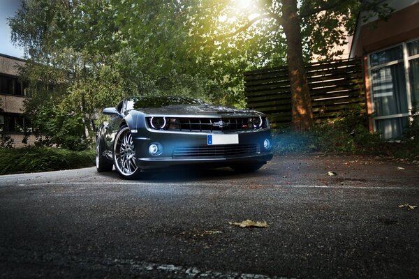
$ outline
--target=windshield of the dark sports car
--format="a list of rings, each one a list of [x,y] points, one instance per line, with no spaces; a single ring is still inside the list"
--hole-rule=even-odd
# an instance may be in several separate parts
[[[133,97],[127,99],[126,110],[140,109],[145,107],[166,107],[168,105],[206,105],[206,103],[199,99],[186,97]]]

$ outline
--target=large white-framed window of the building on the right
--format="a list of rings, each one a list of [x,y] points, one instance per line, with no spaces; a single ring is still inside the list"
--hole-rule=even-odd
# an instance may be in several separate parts
[[[375,129],[396,139],[419,110],[419,40],[370,54],[369,66]]]

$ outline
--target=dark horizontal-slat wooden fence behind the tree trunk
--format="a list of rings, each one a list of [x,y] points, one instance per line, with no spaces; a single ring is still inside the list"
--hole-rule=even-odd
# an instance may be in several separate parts
[[[365,84],[361,59],[346,59],[306,66],[316,122],[334,118],[357,105],[365,112]],[[244,73],[247,106],[269,116],[272,126],[291,122],[288,68]],[[365,112],[366,113],[366,112]]]

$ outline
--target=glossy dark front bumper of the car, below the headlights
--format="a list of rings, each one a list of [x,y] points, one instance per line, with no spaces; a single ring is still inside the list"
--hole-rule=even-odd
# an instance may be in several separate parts
[[[271,141],[270,129],[235,133],[237,144],[209,145],[208,133],[179,133],[150,131],[133,133],[137,164],[142,170],[194,165],[202,167],[227,167],[236,163],[267,163],[273,154],[265,149],[264,140]],[[149,153],[149,145],[159,143],[163,151],[159,156]],[[181,150],[192,150],[179,153]]]

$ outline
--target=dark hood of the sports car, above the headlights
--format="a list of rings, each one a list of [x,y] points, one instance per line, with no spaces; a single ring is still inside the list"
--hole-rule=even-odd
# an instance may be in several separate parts
[[[149,107],[135,109],[143,114],[154,115],[188,115],[188,116],[264,116],[261,112],[254,110],[238,110],[231,107],[220,107],[214,105],[168,105],[166,107]]]

